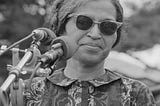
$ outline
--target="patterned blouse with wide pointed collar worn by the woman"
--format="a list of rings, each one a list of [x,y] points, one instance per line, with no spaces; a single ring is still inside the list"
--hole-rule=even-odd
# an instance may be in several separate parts
[[[156,106],[143,83],[109,70],[90,81],[67,78],[63,69],[47,78],[36,77],[24,89],[24,102],[25,106]]]

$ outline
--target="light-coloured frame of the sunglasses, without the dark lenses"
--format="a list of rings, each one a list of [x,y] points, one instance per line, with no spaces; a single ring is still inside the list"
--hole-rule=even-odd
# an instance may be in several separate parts
[[[101,24],[102,22],[112,22],[112,23],[115,23],[115,24],[117,25],[117,28],[116,28],[115,32],[118,30],[119,27],[121,27],[121,26],[123,25],[122,22],[117,22],[117,21],[113,21],[113,20],[96,21],[96,20],[94,20],[92,17],[86,16],[86,15],[83,15],[83,14],[69,14],[69,15],[68,15],[68,18],[74,17],[74,18],[75,18],[75,22],[77,22],[77,17],[78,17],[78,16],[85,16],[85,17],[88,17],[88,18],[90,18],[90,19],[92,20],[92,25],[91,25],[90,28],[87,29],[87,30],[90,30],[95,24],[98,24],[98,28],[99,28],[101,34],[103,34],[103,35],[106,35],[106,34],[102,33],[102,31],[101,31],[101,29],[100,29],[100,24]],[[76,26],[77,26],[77,25],[76,25]],[[77,27],[77,28],[78,28],[78,27]],[[79,29],[79,28],[78,28],[78,29]],[[80,29],[80,30],[82,30],[82,29]],[[114,33],[115,33],[115,32],[114,32]],[[114,34],[114,33],[113,33],[113,34]],[[111,34],[111,35],[112,35],[112,34]]]

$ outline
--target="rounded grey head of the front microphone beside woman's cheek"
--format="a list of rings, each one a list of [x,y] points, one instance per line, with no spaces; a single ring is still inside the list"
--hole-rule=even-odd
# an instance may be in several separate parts
[[[61,43],[62,44],[62,50],[63,50],[63,56],[61,57],[62,60],[67,60],[71,58],[74,53],[78,49],[78,45],[75,40],[72,40],[72,38],[68,36],[60,36],[56,39],[53,40],[52,45],[56,43]]]

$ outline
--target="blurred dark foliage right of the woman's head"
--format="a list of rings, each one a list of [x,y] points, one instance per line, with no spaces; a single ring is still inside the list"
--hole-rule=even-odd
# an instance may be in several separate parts
[[[147,49],[160,43],[160,3],[150,9],[146,9],[146,5],[127,19],[127,39],[123,41],[121,51]]]

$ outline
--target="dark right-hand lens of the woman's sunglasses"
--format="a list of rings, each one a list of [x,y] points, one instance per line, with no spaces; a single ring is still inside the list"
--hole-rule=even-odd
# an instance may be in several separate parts
[[[117,24],[114,22],[102,22],[100,30],[104,35],[112,35],[117,31]]]

